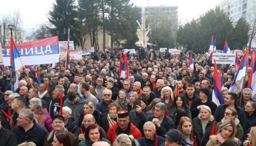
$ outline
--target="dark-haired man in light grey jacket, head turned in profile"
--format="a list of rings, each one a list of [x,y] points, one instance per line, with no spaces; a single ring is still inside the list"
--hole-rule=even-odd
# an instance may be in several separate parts
[[[90,93],[90,85],[87,82],[84,82],[82,84],[82,86],[80,86],[80,91],[82,93],[80,95],[80,97],[83,97],[84,99],[86,99],[88,101],[91,101],[93,103],[94,108],[95,108],[99,101],[95,96],[93,96]]]

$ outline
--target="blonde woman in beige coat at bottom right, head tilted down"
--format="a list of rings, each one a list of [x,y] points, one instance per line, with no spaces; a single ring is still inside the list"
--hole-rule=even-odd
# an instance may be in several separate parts
[[[228,139],[234,139],[238,145],[240,141],[238,138],[235,138],[237,128],[233,120],[225,120],[218,129],[217,135],[211,135],[206,146],[218,146],[221,143],[227,141]]]

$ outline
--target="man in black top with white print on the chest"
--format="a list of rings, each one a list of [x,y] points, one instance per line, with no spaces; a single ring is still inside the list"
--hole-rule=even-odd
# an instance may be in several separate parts
[[[54,95],[51,101],[48,102],[47,111],[53,117],[54,115],[60,114],[60,97],[62,96],[62,104],[64,104],[64,101],[68,99],[64,95],[64,87],[62,85],[57,85],[54,90]]]

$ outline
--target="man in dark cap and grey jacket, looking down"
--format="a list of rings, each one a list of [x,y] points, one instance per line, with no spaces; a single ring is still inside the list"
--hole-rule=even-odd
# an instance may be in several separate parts
[[[77,123],[80,114],[83,113],[83,105],[85,99],[78,97],[75,92],[69,92],[66,96],[68,97],[68,99],[64,101],[63,106],[67,106],[72,110],[71,116],[75,119]]]

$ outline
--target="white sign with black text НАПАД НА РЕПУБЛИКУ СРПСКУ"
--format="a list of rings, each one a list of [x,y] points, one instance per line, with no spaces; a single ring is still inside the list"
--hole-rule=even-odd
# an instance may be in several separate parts
[[[234,53],[213,53],[212,63],[214,64],[235,64],[235,54]]]

